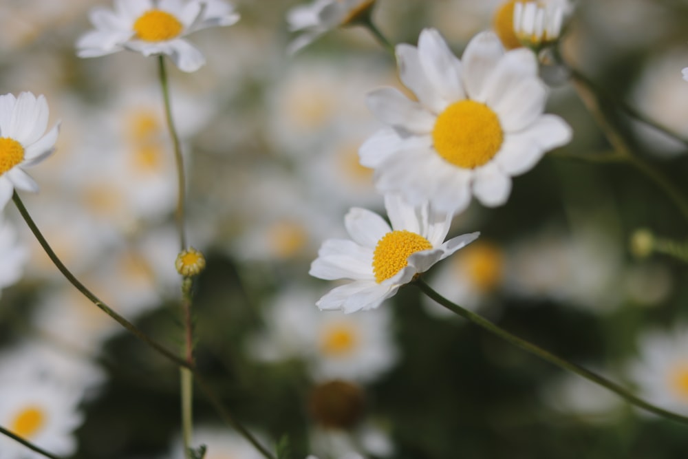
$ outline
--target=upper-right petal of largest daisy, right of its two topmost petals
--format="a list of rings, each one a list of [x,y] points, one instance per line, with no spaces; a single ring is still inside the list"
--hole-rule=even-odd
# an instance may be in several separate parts
[[[488,76],[477,96],[480,102],[493,107],[502,97],[524,79],[537,78],[535,54],[525,48],[506,52]]]

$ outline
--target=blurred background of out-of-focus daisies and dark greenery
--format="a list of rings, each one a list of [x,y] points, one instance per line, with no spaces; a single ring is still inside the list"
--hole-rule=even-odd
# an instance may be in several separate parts
[[[361,28],[290,56],[285,16],[298,3],[235,1],[239,23],[189,37],[206,56],[200,71],[169,65],[189,242],[207,257],[195,285],[197,365],[230,412],[271,448],[288,438],[292,458],[685,457],[688,426],[513,348],[413,286],[371,312],[317,310],[332,288],[308,276],[319,245],[345,235],[351,206],[384,210],[357,163],[380,128],[365,94],[400,83]],[[460,56],[500,3],[379,0],[373,17],[393,43],[438,28]],[[111,7],[0,6],[0,92],[45,94],[51,125],[61,120],[57,152],[30,171],[41,192],[22,198],[89,288],[180,349],[176,182],[156,61],[77,58],[74,42],[96,5]],[[561,43],[634,153],[684,196],[685,142],[619,102],[688,137],[687,21],[685,1],[580,0]],[[687,222],[642,171],[600,160],[612,147],[566,75],[548,83],[548,111],[570,123],[572,142],[515,178],[506,205],[474,203],[458,216],[451,234],[480,239],[425,279],[520,337],[688,414],[685,261],[638,257],[629,244],[638,228],[682,244]],[[181,458],[178,369],[80,298],[12,204],[3,225],[26,260],[21,279],[1,290],[0,405],[10,388],[58,380],[64,390],[54,397],[78,394],[83,416],[74,458]],[[40,374],[22,370],[32,365]],[[260,457],[200,393],[195,424],[208,459]]]

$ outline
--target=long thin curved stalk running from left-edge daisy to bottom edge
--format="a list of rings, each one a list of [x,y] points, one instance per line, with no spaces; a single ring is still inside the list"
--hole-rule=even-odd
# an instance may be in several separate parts
[[[145,334],[141,330],[138,330],[138,328],[136,328],[135,325],[133,325],[131,322],[127,321],[127,319],[121,317],[119,314],[114,312],[114,310],[109,308],[109,306],[103,303],[103,301],[100,301],[100,299],[98,299],[98,297],[96,297],[96,295],[94,295],[93,292],[91,292],[78,279],[76,279],[76,277],[74,277],[74,275],[67,269],[65,264],[63,264],[63,262],[56,255],[54,250],[52,250],[52,247],[50,247],[50,244],[47,243],[45,237],[43,237],[43,234],[39,230],[38,226],[36,226],[36,223],[26,210],[26,207],[24,206],[23,202],[21,202],[21,199],[19,198],[17,191],[14,191],[14,194],[12,195],[12,201],[17,206],[17,210],[19,210],[21,217],[23,217],[24,221],[29,226],[31,232],[34,234],[34,237],[36,237],[36,240],[39,242],[39,244],[41,244],[43,250],[45,250],[47,256],[58,268],[60,273],[62,273],[62,275],[67,279],[67,281],[69,281],[69,283],[76,288],[76,290],[78,290],[82,295],[87,297],[87,299],[94,303],[94,305],[96,305],[100,310],[103,310],[103,312],[112,317],[112,319],[114,319],[117,323],[122,325],[122,327],[124,327],[128,332],[130,332],[135,337],[149,345],[149,347],[158,352],[160,355],[164,356],[166,359],[169,359],[169,361],[172,361],[176,365],[188,369],[189,372],[193,374],[195,380],[197,381],[198,385],[201,387],[203,392],[206,394],[206,397],[210,401],[211,405],[213,405],[213,408],[215,408],[215,411],[219,413],[220,416],[222,416],[222,418],[224,418],[229,425],[234,427],[239,432],[239,434],[244,436],[246,440],[248,440],[252,445],[254,445],[255,448],[258,451],[260,451],[266,459],[275,459],[275,457],[272,456],[270,451],[268,451],[265,447],[261,446],[258,440],[244,426],[242,426],[237,420],[235,420],[229,414],[229,412],[222,405],[222,402],[219,401],[219,398],[217,398],[217,396],[213,393],[208,384],[204,382],[204,379],[202,378],[201,374],[197,372],[193,364],[188,363],[186,360],[177,356],[174,352],[167,350],[166,348],[164,348],[163,345],[160,345],[159,343],[148,337],[147,334]],[[0,433],[6,434],[5,429],[0,429]],[[10,434],[10,437],[15,438],[16,436]],[[56,456],[48,457],[56,458]]]

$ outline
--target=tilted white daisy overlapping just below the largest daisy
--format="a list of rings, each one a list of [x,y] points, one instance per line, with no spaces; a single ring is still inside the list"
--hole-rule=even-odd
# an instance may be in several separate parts
[[[354,207],[344,224],[352,240],[328,239],[313,261],[310,275],[352,279],[331,290],[316,305],[323,310],[355,312],[377,308],[385,299],[441,259],[475,240],[480,233],[447,242],[451,214],[429,204],[410,206],[398,195],[385,196],[391,226],[380,215]]]

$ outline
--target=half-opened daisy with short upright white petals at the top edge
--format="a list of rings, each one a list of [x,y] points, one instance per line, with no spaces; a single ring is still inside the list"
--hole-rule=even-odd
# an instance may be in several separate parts
[[[557,3],[517,2],[514,7],[514,32],[519,41],[534,50],[559,39],[564,9]]]

